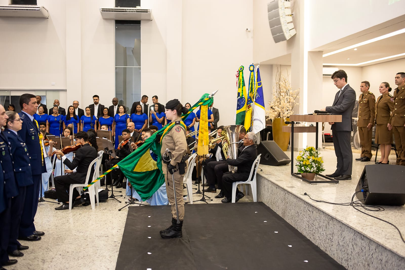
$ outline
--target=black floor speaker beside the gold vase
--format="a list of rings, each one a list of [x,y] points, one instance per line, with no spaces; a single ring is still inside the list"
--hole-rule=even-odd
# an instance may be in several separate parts
[[[260,164],[264,165],[279,166],[291,162],[291,159],[281,150],[275,141],[260,141],[260,144],[257,146],[257,154],[262,154]]]

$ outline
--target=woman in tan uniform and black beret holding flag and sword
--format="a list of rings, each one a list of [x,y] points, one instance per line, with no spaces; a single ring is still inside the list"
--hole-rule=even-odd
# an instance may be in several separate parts
[[[171,204],[172,211],[172,225],[167,229],[160,231],[160,236],[162,238],[181,238],[181,228],[183,227],[184,219],[184,201],[183,201],[183,176],[184,172],[181,174],[183,166],[183,171],[185,169],[184,162],[182,162],[184,154],[187,152],[187,141],[185,137],[186,126],[181,121],[181,114],[186,113],[188,110],[181,105],[178,99],[173,99],[166,103],[166,118],[171,120],[174,124],[173,126],[166,127],[168,131],[164,131],[162,134],[161,144],[162,149],[160,154],[162,154],[162,171],[164,174],[164,179],[166,181],[166,193]],[[171,128],[170,128],[171,127]],[[170,129],[169,129],[170,128]],[[172,159],[170,163],[166,164],[164,162],[164,153],[166,148],[171,152]],[[173,178],[175,178],[176,184],[176,197],[173,191]],[[177,207],[179,210],[179,220],[180,223],[177,224],[177,213],[175,206],[175,199],[177,200]]]

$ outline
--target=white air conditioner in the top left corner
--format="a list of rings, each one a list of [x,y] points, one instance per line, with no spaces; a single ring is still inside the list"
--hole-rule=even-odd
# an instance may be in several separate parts
[[[7,5],[0,6],[0,17],[41,18],[48,19],[49,14],[43,6]]]

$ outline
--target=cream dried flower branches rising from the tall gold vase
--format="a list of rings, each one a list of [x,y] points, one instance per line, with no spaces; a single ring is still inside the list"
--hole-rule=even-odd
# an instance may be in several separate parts
[[[277,70],[276,84],[273,86],[273,100],[269,101],[268,110],[266,110],[267,118],[274,120],[275,118],[286,119],[294,113],[292,108],[299,104],[295,100],[299,98],[299,89],[292,90],[290,81]]]

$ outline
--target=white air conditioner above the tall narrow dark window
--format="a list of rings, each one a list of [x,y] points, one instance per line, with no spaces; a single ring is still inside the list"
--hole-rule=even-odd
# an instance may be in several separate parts
[[[152,20],[152,11],[150,9],[126,7],[100,8],[100,13],[102,18],[106,20]]]

